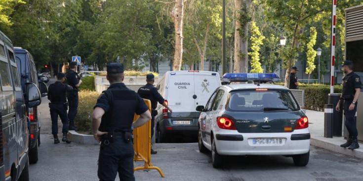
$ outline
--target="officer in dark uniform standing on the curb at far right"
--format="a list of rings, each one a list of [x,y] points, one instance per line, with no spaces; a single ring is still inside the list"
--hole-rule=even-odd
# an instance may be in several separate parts
[[[336,110],[340,110],[340,104],[343,102],[343,109],[345,114],[345,127],[349,132],[349,137],[345,144],[341,147],[348,147],[348,149],[359,148],[358,144],[358,130],[357,120],[355,115],[357,113],[357,101],[361,94],[361,78],[353,72],[353,63],[351,61],[344,61],[343,71],[345,77],[343,78],[343,93],[340,96]]]

